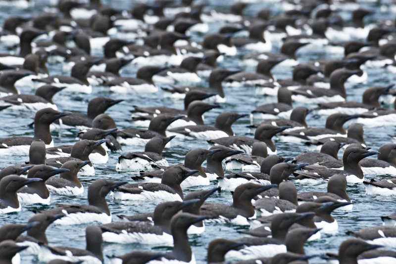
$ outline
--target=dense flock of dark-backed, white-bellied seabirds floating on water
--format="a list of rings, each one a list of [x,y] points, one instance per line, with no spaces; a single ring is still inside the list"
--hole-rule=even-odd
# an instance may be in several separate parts
[[[29,135],[5,132],[7,137],[0,138],[1,156],[29,157],[26,164],[1,164],[0,214],[20,214],[37,204],[47,210],[36,211],[26,223],[8,221],[0,227],[1,264],[20,263],[21,255],[49,264],[194,264],[189,235],[199,240],[205,225],[232,226],[240,233],[236,239],[212,234],[204,245],[207,263],[308,263],[318,256],[305,255],[304,243],[338,232],[333,211],[345,217],[351,212],[355,193],[350,186],[364,184],[367,195],[396,194],[395,135],[374,151],[363,134],[364,126],[393,126],[396,110],[384,108],[384,100],[396,106],[396,89],[386,80],[367,88],[361,102],[347,98],[354,93],[350,84],[372,78],[367,69],[395,72],[395,21],[366,25],[373,12],[354,1],[285,0],[282,13],[263,8],[244,15],[250,4],[227,2],[216,10],[194,0],[157,0],[121,10],[99,0],[59,0],[45,12],[4,20],[0,43],[9,52],[0,54],[0,115],[33,111],[35,116]],[[339,14],[345,10],[347,19]],[[299,62],[299,48],[329,48],[342,55]],[[236,67],[221,67],[222,60]],[[256,65],[256,72],[238,70],[241,61]],[[70,74],[53,75],[48,64]],[[281,65],[292,72],[291,79],[271,73]],[[136,69],[136,77],[120,73],[123,67]],[[84,97],[99,89],[123,99],[94,97],[86,114],[58,111],[57,100],[67,106],[77,94],[88,101]],[[243,105],[245,113],[222,111],[227,99],[244,95],[241,90],[254,90],[258,101],[277,96],[278,102],[255,109]],[[135,100],[137,94],[145,94],[144,105]],[[184,109],[158,104],[172,100],[184,100]],[[148,107],[151,103],[157,106]],[[124,118],[132,114],[122,129],[116,125],[120,118],[116,122],[104,113],[118,104]],[[219,114],[209,125],[203,115],[212,109]],[[326,118],[323,127],[307,125],[312,112]],[[235,135],[233,124],[247,117],[254,137]],[[346,131],[349,120],[354,123]],[[66,134],[52,138],[53,129],[71,131],[74,144],[62,140]],[[166,152],[175,141],[209,147],[191,148],[170,166]],[[277,156],[282,144],[297,146],[300,154]],[[303,152],[307,146],[313,151]],[[118,158],[111,170],[131,179],[95,173],[109,156]],[[85,184],[87,176],[96,179]],[[327,182],[327,192],[313,190],[321,182]],[[297,193],[296,185],[302,191]],[[206,202],[230,192],[229,203]],[[88,201],[81,204],[51,202],[51,194],[85,193]],[[143,211],[147,203],[156,207],[114,218],[109,193],[119,203],[136,201]],[[383,225],[348,231],[352,238],[339,245],[337,254],[321,257],[340,264],[396,263],[396,252],[388,250],[396,246],[396,213],[382,220]],[[49,243],[50,224],[66,225],[67,232],[86,226],[86,249]],[[104,242],[173,249],[103,256]]]

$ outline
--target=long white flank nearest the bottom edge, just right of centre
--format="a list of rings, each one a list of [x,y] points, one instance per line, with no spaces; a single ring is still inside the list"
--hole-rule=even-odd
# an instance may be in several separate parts
[[[254,258],[271,258],[280,253],[286,253],[285,245],[267,244],[248,246],[238,251],[230,250],[225,257],[226,259],[249,260]]]

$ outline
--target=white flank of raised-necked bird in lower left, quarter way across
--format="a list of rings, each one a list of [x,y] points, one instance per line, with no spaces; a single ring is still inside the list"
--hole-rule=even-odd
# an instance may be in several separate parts
[[[67,213],[63,210],[63,213]],[[111,222],[111,214],[108,216],[105,213],[95,214],[95,213],[73,213],[66,214],[65,217],[55,220],[55,224],[61,225],[69,225],[69,224],[80,224],[80,223],[91,223],[91,222],[99,222],[99,223],[109,223]]]

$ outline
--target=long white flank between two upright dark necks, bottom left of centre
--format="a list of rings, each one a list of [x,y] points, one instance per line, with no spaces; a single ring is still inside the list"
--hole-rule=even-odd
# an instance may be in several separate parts
[[[113,232],[103,232],[103,241],[109,243],[120,243],[120,244],[173,244],[172,235],[163,232],[162,235],[153,233],[128,233],[126,230],[122,230],[122,233],[116,234]]]

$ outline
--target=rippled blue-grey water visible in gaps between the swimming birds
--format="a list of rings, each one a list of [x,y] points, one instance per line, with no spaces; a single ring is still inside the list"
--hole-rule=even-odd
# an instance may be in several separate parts
[[[104,4],[111,5],[117,9],[130,9],[135,1],[129,0],[103,0]],[[209,0],[204,10],[210,10],[211,8],[217,8],[220,10],[227,10],[227,6],[230,4],[229,1],[221,0]],[[374,11],[373,15],[370,15],[365,21],[367,24],[375,23],[376,20],[390,18],[394,19],[392,9],[388,8],[388,5],[381,5],[381,1],[358,1],[361,7]],[[29,8],[19,8],[17,6],[9,6],[0,8],[0,24],[10,15],[21,15],[21,16],[32,16],[43,10],[48,10],[47,6],[50,4],[47,0],[37,0],[34,6]],[[249,3],[245,14],[247,16],[254,16],[261,8],[270,8],[272,15],[284,12],[285,5],[280,1],[256,1]],[[350,19],[351,10],[356,7],[350,7],[341,9],[340,15],[345,20]],[[217,32],[218,29],[225,25],[225,22],[215,22],[209,24],[209,32]],[[111,37],[117,37],[113,35]],[[193,35],[193,40],[199,40],[202,35]],[[279,50],[279,43],[273,43],[273,51]],[[11,50],[15,51],[15,50]],[[10,52],[0,43],[0,52]],[[218,62],[219,68],[228,69],[239,69],[243,71],[254,71],[255,67],[245,65],[242,61],[242,56],[246,54],[247,50],[240,49],[238,54],[233,57],[224,57],[223,61]],[[93,55],[102,55],[100,49],[94,50]],[[325,46],[307,45],[297,51],[297,57],[299,62],[307,62],[315,59],[326,59],[326,58],[342,58],[343,53],[333,52],[330,48]],[[68,75],[70,72],[62,70],[62,63],[49,64],[49,72],[52,75],[64,74]],[[122,70],[123,76],[134,77],[140,66],[134,63],[127,65]],[[363,91],[370,86],[388,85],[395,82],[395,75],[388,71],[386,68],[366,68],[368,74],[368,80],[362,84],[346,84],[347,88],[347,99],[361,101],[361,95]],[[291,78],[292,68],[288,66],[276,66],[273,70],[274,76],[278,79]],[[199,83],[199,86],[205,87],[207,85],[207,79],[202,78],[203,81]],[[34,89],[31,87],[19,86],[18,89],[21,93],[34,93]],[[250,113],[256,106],[264,103],[276,102],[276,97],[272,96],[258,96],[255,94],[255,89],[252,87],[241,87],[241,88],[225,88],[227,101],[221,104],[221,108],[209,111],[204,115],[205,124],[214,124],[216,116],[222,111],[235,111],[238,113]],[[91,98],[97,96],[106,96],[114,99],[125,99],[122,103],[111,107],[106,111],[116,122],[119,129],[130,127],[130,113],[128,110],[133,108],[133,105],[138,106],[153,106],[153,105],[165,105],[176,108],[183,108],[182,100],[173,100],[169,97],[163,96],[163,91],[159,89],[156,93],[139,93],[139,94],[117,94],[111,93],[108,89],[103,87],[93,87],[91,94],[83,93],[70,93],[62,91],[56,94],[53,101],[58,106],[59,110],[62,111],[76,111],[86,113],[88,101]],[[294,106],[301,104],[295,103]],[[304,105],[306,107],[315,107],[315,105]],[[392,107],[386,105],[387,107]],[[11,135],[33,135],[33,129],[27,126],[32,122],[34,112],[30,110],[5,110],[0,113],[0,136],[11,136]],[[324,126],[325,116],[319,115],[308,115],[307,124],[312,127]],[[254,120],[259,121],[259,120]],[[349,121],[345,128],[350,124]],[[248,118],[239,120],[234,126],[234,132],[237,135],[248,135],[253,136],[254,131],[250,131],[247,125],[250,124]],[[51,134],[54,140],[54,144],[73,144],[77,141],[76,134],[79,132],[77,129],[56,129],[52,130]],[[388,134],[395,133],[395,124],[384,124],[381,127],[365,127],[364,138],[369,146],[373,150],[377,150],[379,146],[384,143],[392,142],[392,138]],[[300,143],[294,142],[282,142],[274,138],[275,144],[278,149],[278,155],[283,157],[294,157],[299,153],[307,151],[307,146]],[[182,163],[184,155],[193,148],[208,148],[210,147],[205,140],[180,140],[177,137],[171,141],[170,146],[164,150],[163,156],[168,160],[169,164]],[[80,180],[85,187],[85,192],[81,196],[76,197],[65,197],[62,195],[51,194],[50,205],[22,205],[22,211],[17,213],[11,213],[6,215],[0,215],[0,225],[7,223],[25,223],[29,218],[34,215],[36,210],[46,210],[53,208],[61,204],[86,204],[87,203],[87,187],[88,185],[97,178],[105,178],[112,180],[128,180],[133,182],[131,179],[132,175],[138,175],[139,172],[122,172],[118,173],[115,171],[115,166],[118,161],[118,156],[121,153],[128,153],[129,151],[142,151],[143,146],[123,146],[120,153],[109,153],[109,160],[106,164],[95,165],[96,175],[95,176],[81,176]],[[340,153],[341,157],[342,153]],[[28,156],[25,155],[14,155],[14,156],[2,156],[0,157],[0,167],[6,167],[13,164],[24,163],[28,160]],[[370,179],[373,176],[366,175],[366,178]],[[378,178],[380,178],[379,176]],[[319,182],[317,185],[302,185],[298,184],[298,191],[309,190],[326,190],[326,183]],[[210,186],[197,186],[192,188],[186,188],[185,193],[189,193],[193,190],[208,189],[217,186],[217,182],[211,182]],[[324,263],[325,261],[320,258],[326,252],[337,252],[340,244],[345,239],[349,238],[345,234],[347,230],[358,230],[363,227],[380,225],[382,221],[381,216],[389,215],[396,211],[396,205],[394,203],[395,197],[393,196],[376,196],[366,195],[365,189],[362,184],[352,184],[347,186],[347,193],[353,201],[353,211],[342,212],[338,211],[333,213],[335,219],[339,224],[339,231],[331,235],[322,235],[322,238],[316,241],[307,242],[305,244],[306,254],[317,255],[312,262]],[[108,205],[113,215],[113,221],[117,221],[116,217],[119,214],[133,215],[138,213],[153,211],[157,202],[128,202],[128,201],[117,201],[112,200],[111,195],[107,196]],[[230,193],[221,192],[216,193],[210,197],[208,202],[219,202],[231,204],[232,196]],[[49,245],[53,246],[72,246],[77,248],[85,248],[85,227],[86,225],[50,225],[47,229],[47,236]],[[232,224],[206,224],[206,230],[201,235],[190,236],[190,242],[195,254],[197,263],[205,263],[206,261],[206,250],[208,243],[217,238],[224,237],[228,239],[242,237],[238,230],[247,229],[248,226],[238,226]],[[104,243],[103,254],[105,256],[111,256],[113,254],[122,255],[134,250],[158,250],[166,251],[170,250],[170,246],[163,245],[141,245],[141,244],[115,244],[115,243]],[[105,257],[104,263],[107,263],[108,259]],[[39,263],[35,256],[22,256],[22,263]]]

